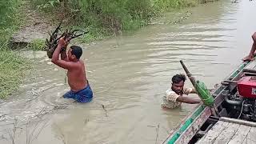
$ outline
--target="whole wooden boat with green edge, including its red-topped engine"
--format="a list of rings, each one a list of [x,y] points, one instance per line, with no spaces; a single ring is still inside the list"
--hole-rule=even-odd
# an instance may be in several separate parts
[[[256,60],[242,62],[163,143],[256,143]],[[216,115],[217,114],[217,115]]]

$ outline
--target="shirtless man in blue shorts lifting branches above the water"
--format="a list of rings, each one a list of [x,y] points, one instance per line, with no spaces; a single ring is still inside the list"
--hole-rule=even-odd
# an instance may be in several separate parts
[[[67,70],[70,91],[64,94],[63,98],[73,98],[77,102],[90,102],[93,98],[93,91],[90,89],[86,78],[85,64],[80,59],[82,48],[80,46],[70,46],[67,54],[66,50],[61,52],[62,47],[66,47],[68,42],[68,40],[60,38],[51,58],[51,62]],[[59,59],[60,54],[61,59]]]

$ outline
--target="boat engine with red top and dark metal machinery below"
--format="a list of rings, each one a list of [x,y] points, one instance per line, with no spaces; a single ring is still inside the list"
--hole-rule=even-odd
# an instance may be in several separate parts
[[[240,78],[237,89],[224,95],[224,100],[230,118],[256,122],[256,77]]]

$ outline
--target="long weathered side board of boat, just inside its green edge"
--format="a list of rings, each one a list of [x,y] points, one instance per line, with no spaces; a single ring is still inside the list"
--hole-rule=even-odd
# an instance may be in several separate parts
[[[186,131],[177,139],[175,143],[185,144],[190,142],[190,139],[194,137],[194,134],[198,132],[200,127],[206,122],[207,118],[211,115],[210,107],[206,107],[194,122],[186,129]]]

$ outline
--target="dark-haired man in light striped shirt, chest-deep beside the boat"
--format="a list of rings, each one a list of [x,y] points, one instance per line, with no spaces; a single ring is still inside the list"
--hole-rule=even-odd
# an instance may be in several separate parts
[[[173,109],[181,106],[182,102],[195,104],[201,102],[200,99],[183,96],[183,94],[196,94],[194,88],[185,88],[184,82],[186,76],[184,74],[176,74],[171,79],[172,85],[170,89],[166,90],[166,95],[162,98],[162,107]]]

